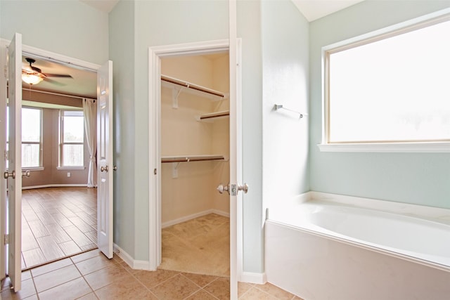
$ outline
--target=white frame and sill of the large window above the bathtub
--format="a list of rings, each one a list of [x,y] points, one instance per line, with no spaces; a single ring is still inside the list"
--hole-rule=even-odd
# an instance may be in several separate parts
[[[329,141],[330,55],[446,21],[450,21],[450,8],[322,47],[322,141],[318,145],[321,152],[450,152],[450,141],[361,141],[356,143],[330,143]]]

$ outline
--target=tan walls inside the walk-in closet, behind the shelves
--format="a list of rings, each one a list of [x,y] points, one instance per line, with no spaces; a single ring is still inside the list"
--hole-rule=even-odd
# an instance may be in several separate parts
[[[162,74],[193,84],[229,92],[228,56],[209,59],[188,56],[162,59]],[[229,100],[213,102],[181,92],[179,108],[172,108],[172,89],[161,90],[161,154],[224,155],[229,157],[229,119],[198,122],[195,116],[227,110]],[[229,181],[229,162],[181,162],[172,178],[172,163],[162,164],[162,223],[215,209],[229,214],[229,197],[219,183]]]

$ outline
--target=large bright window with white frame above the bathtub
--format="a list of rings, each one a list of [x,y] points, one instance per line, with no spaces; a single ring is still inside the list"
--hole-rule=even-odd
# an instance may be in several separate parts
[[[323,47],[321,151],[450,152],[450,10]]]

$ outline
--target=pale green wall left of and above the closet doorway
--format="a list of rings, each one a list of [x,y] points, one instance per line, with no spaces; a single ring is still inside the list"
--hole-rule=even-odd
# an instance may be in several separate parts
[[[148,261],[148,48],[228,39],[228,1],[120,1],[110,13],[110,39],[115,72],[129,76],[115,80],[115,96],[124,101],[117,110],[126,110],[117,114],[122,142],[115,155],[117,164],[129,164],[127,178],[117,178],[115,240],[135,260]]]

